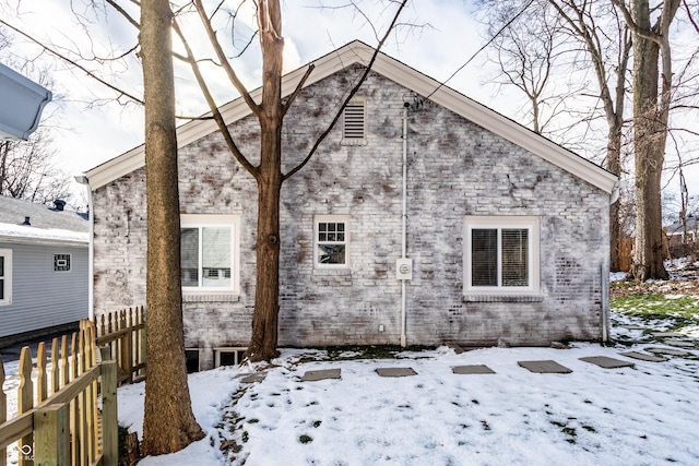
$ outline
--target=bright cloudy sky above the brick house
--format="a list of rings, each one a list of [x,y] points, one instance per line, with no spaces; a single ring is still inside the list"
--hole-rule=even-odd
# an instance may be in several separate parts
[[[86,7],[90,2],[91,0],[9,0],[12,8],[0,3],[4,4],[0,14],[11,24],[31,32],[43,41],[50,41],[57,48],[80,47],[85,57],[119,53],[137,45],[137,32],[130,24],[111,10],[108,10],[109,13],[95,13]],[[125,3],[128,5],[130,2]],[[235,37],[238,46],[245,44],[245,37],[254,28],[251,3],[247,2],[241,9],[236,23]],[[285,71],[301,67],[354,39],[369,45],[377,44],[377,34],[366,19],[370,19],[379,34],[382,34],[394,9],[386,8],[384,2],[363,0],[358,4],[365,12],[365,17],[355,10],[336,8],[346,3],[344,0],[283,1]],[[131,11],[131,14],[138,17],[138,12]],[[391,35],[383,50],[438,81],[446,81],[476,55],[487,40],[476,16],[473,0],[412,1],[401,16],[403,26]],[[182,24],[190,32],[189,40],[201,58],[206,51],[204,34],[192,19],[191,14],[185,16]],[[227,22],[216,24],[222,34],[229,31],[229,26]],[[12,50],[21,55],[40,55],[36,46],[27,45],[21,38],[15,39]],[[254,47],[233,63],[248,88],[259,86],[259,52]],[[107,64],[111,67],[111,72],[105,74],[103,69],[103,75],[140,95],[141,69],[135,58],[130,58],[126,64]],[[95,64],[88,67],[96,69]],[[203,67],[217,104],[225,104],[238,96],[213,67]],[[521,122],[524,108],[521,96],[513,89],[497,88],[488,84],[494,73],[495,69],[487,62],[486,53],[481,52],[470,64],[458,71],[448,85]],[[196,117],[205,112],[208,108],[201,92],[191,74],[177,61],[176,74],[178,115]],[[140,106],[119,105],[109,100],[114,99],[114,92],[86,77],[84,72],[66,64],[58,65],[54,77],[56,103],[52,105],[56,107],[47,108],[47,112],[59,109],[50,124],[57,128],[58,156],[66,171],[79,175],[143,142]],[[182,119],[178,124],[186,121]],[[600,133],[600,136],[604,138],[604,134],[606,131]],[[690,191],[699,190],[699,170],[688,170],[686,175]],[[671,188],[676,184],[678,186],[676,181],[672,181]]]

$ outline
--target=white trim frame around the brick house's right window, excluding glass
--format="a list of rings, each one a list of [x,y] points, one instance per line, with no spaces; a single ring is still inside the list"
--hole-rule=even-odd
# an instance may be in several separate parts
[[[471,230],[481,228],[528,228],[530,231],[529,248],[529,286],[486,287],[471,285]],[[540,217],[536,216],[466,216],[464,218],[463,241],[463,283],[465,295],[537,295],[540,292],[541,267],[541,232]]]

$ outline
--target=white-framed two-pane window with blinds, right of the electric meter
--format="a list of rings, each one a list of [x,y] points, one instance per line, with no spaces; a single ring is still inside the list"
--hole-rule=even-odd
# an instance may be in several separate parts
[[[537,292],[538,218],[466,217],[464,258],[466,292]]]

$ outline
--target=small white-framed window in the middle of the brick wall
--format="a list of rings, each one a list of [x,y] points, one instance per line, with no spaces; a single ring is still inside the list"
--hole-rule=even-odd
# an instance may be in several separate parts
[[[347,266],[348,218],[342,215],[316,217],[316,265],[343,268]]]

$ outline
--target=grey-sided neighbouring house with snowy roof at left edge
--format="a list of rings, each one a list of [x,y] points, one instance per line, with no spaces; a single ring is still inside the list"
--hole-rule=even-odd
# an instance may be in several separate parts
[[[0,196],[0,346],[88,315],[90,222]]]

